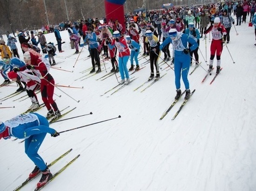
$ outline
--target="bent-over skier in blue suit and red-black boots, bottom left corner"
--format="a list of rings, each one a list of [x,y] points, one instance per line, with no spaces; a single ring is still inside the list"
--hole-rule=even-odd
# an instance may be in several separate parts
[[[42,177],[37,183],[38,188],[45,185],[53,177],[46,163],[38,154],[47,133],[51,134],[52,137],[60,135],[56,130],[49,127],[49,122],[44,116],[37,113],[18,115],[5,122],[0,121],[0,139],[7,140],[11,137],[25,139],[25,153],[35,164],[29,178],[34,178],[42,172]]]

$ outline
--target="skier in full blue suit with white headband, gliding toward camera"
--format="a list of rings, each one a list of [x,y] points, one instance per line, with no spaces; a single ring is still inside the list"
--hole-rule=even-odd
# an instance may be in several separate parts
[[[169,37],[164,40],[162,45],[160,45],[160,50],[162,51],[163,47],[165,47],[168,43],[173,45],[174,49],[174,68],[175,68],[175,86],[177,95],[175,99],[179,99],[181,96],[181,76],[183,83],[186,89],[185,100],[189,98],[190,90],[189,90],[189,66],[190,66],[190,51],[194,51],[198,44],[197,42],[189,37],[187,34],[183,34],[182,32],[177,32],[176,29],[171,29],[169,32]],[[191,46],[188,48],[188,43]]]

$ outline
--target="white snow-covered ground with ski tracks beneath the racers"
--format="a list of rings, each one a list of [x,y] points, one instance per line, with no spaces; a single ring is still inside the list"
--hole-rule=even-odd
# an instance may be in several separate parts
[[[55,83],[84,87],[83,89],[55,89],[54,96],[60,109],[70,106],[74,111],[64,118],[93,112],[93,115],[54,123],[57,131],[107,120],[121,118],[62,133],[53,138],[47,135],[40,147],[39,154],[50,163],[68,149],[73,151],[50,168],[57,172],[62,166],[81,154],[71,166],[47,185],[45,191],[254,191],[256,190],[256,46],[254,28],[248,23],[234,26],[230,32],[229,55],[223,47],[223,70],[214,83],[214,77],[206,75],[201,67],[189,76],[190,89],[195,94],[187,102],[181,113],[172,121],[172,117],[183,102],[176,103],[163,120],[159,120],[175,97],[173,70],[160,70],[163,76],[157,83],[143,92],[146,85],[134,91],[150,75],[149,64],[132,76],[138,77],[127,87],[115,94],[108,89],[117,85],[115,75],[106,80],[96,80],[106,73],[76,80],[87,74],[81,71],[91,67],[87,47],[78,54],[69,45],[67,31],[61,32],[63,53],[57,51],[56,67],[73,72],[51,69]],[[56,40],[53,33],[45,35],[47,42]],[[6,37],[5,37],[6,39]],[[200,49],[209,63],[209,35],[200,42]],[[22,55],[19,47],[20,55]],[[80,47],[81,50],[81,47]],[[170,48],[171,50],[171,48]],[[78,61],[74,66],[75,61]],[[163,57],[163,54],[161,55]],[[148,57],[146,57],[148,59]],[[208,69],[199,54],[202,67]],[[143,58],[140,63],[143,63]],[[105,62],[107,72],[111,63]],[[168,63],[170,64],[170,62]],[[167,65],[163,65],[163,68]],[[130,63],[128,63],[128,68]],[[195,64],[191,66],[193,70]],[[214,60],[216,68],[216,57]],[[104,66],[102,66],[104,68]],[[105,69],[105,68],[104,68]],[[119,74],[117,75],[119,76]],[[131,76],[131,77],[132,77]],[[120,78],[119,78],[120,80]],[[2,83],[3,79],[0,79]],[[13,93],[17,87],[1,87],[0,98]],[[184,85],[182,83],[182,90]],[[26,95],[25,92],[19,96]],[[29,99],[13,101],[15,96],[0,107],[1,120],[6,121],[27,110]],[[42,103],[39,95],[40,103]],[[47,109],[38,111],[46,115]],[[34,164],[24,153],[24,143],[19,140],[0,141],[0,190],[12,191],[20,185],[34,169]],[[33,191],[40,177],[26,185],[22,191]]]

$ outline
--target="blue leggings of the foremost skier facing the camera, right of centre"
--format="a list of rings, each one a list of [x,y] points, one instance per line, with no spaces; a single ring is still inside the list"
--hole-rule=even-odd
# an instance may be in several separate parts
[[[181,76],[186,89],[189,89],[189,67],[190,56],[189,54],[182,54],[181,56],[175,55],[174,68],[175,68],[175,86],[176,89],[181,88]]]

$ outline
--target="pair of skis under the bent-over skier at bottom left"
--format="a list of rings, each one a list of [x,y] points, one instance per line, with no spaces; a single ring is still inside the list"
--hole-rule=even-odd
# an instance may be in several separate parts
[[[54,161],[52,161],[49,165],[47,165],[47,167],[51,167],[53,166],[56,162],[58,162],[60,159],[62,159],[63,157],[65,157],[68,153],[70,153],[73,149],[69,149],[66,153],[62,154],[61,156],[59,156],[57,159],[55,159]],[[78,157],[80,157],[80,154],[78,154],[74,159],[70,160],[67,165],[63,166],[58,172],[55,172],[53,174],[53,177],[42,187],[38,188],[36,187],[34,191],[40,191],[41,189],[43,189],[47,184],[49,184],[51,181],[54,180],[54,178],[56,178],[61,172],[63,172],[67,166],[70,166]],[[41,174],[38,173],[34,178],[38,177]],[[19,185],[17,188],[14,189],[14,191],[19,191],[21,188],[23,188],[25,185],[27,185],[29,182],[31,182],[34,178],[27,178],[23,183],[21,183],[21,185]]]

